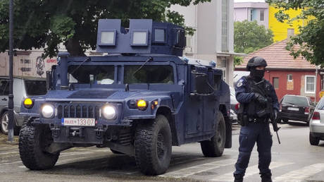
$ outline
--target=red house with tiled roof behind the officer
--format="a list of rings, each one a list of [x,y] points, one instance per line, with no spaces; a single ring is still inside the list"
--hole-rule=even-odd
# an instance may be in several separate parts
[[[247,61],[261,56],[268,63],[264,78],[273,84],[278,99],[287,94],[303,95],[318,102],[324,90],[324,71],[302,57],[294,59],[285,49],[286,45],[287,40],[283,40],[249,54],[235,71],[246,71]]]

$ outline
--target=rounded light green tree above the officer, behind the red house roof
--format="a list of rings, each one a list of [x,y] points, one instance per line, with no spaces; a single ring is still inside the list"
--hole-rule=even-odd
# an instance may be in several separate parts
[[[234,51],[249,54],[273,43],[273,32],[256,21],[234,23]]]

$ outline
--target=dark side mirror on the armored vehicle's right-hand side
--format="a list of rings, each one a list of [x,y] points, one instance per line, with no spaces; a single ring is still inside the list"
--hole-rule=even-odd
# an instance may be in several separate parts
[[[197,95],[213,95],[213,86],[208,82],[208,76],[206,73],[191,72],[191,89],[192,94]]]

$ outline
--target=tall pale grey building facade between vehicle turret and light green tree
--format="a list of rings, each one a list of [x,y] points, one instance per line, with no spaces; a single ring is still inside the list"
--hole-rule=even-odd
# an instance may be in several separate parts
[[[185,16],[185,25],[196,30],[193,36],[187,35],[184,55],[193,59],[216,61],[229,85],[232,85],[235,55],[233,5],[232,0],[211,0],[187,7],[170,8]]]

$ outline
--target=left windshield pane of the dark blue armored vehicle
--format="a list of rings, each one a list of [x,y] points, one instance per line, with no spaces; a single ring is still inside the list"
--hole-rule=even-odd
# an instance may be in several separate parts
[[[68,67],[69,83],[111,85],[114,82],[115,66],[73,65]],[[74,71],[74,72],[73,72]]]

